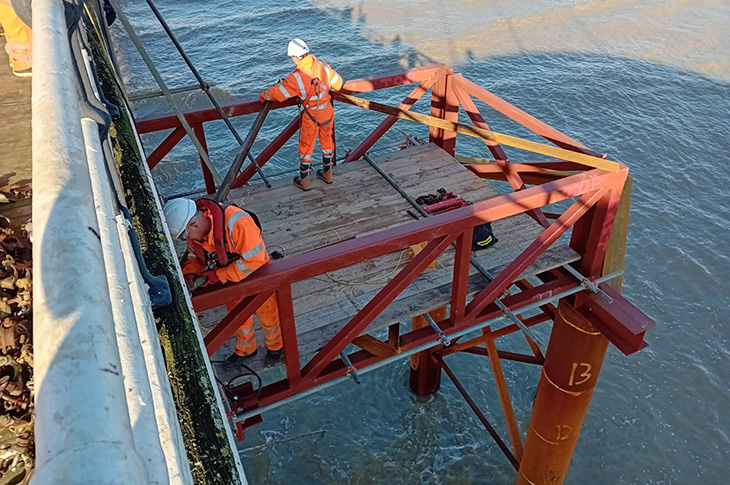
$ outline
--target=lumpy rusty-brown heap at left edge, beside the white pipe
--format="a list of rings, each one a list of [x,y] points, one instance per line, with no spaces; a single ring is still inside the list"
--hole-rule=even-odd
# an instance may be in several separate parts
[[[7,180],[0,176],[0,485],[27,483],[35,463],[31,191]]]

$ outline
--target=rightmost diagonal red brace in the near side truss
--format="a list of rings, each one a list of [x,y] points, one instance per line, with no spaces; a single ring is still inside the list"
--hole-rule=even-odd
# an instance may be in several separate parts
[[[476,316],[482,309],[492,303],[505,288],[507,288],[522,272],[530,266],[537,257],[545,252],[560,236],[572,226],[575,221],[588,211],[607,191],[601,188],[593,192],[581,195],[573,205],[566,210],[562,216],[545,229],[542,234],[530,244],[520,255],[515,258],[499,275],[489,283],[486,288],[474,295],[471,303],[466,308],[467,316]],[[517,192],[523,193],[520,191]]]

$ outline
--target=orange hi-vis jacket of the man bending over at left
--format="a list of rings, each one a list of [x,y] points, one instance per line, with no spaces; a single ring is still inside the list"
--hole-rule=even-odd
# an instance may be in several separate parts
[[[219,267],[215,247],[215,218],[209,209],[203,214],[211,223],[211,230],[202,241],[188,239],[188,251],[183,266],[183,274],[199,275],[206,270],[215,269],[222,283],[241,281],[255,270],[270,263],[266,246],[261,239],[261,231],[248,212],[234,205],[225,207],[225,241],[228,252],[237,256],[226,266]],[[204,260],[201,261],[202,248]],[[196,255],[197,253],[197,255]]]

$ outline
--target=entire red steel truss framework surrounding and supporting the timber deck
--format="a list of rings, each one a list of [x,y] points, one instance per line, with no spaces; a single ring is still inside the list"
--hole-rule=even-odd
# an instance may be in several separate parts
[[[382,78],[349,81],[343,87],[342,92],[361,93],[410,83],[418,84],[399,105],[399,108],[404,111],[410,109],[418,99],[431,89],[431,116],[448,121],[458,121],[458,110],[461,106],[466,110],[474,126],[488,130],[488,125],[471,98],[473,96],[561,148],[601,157],[599,153],[586,148],[579,142],[464,79],[461,74],[454,74],[451,69],[443,65],[412,69],[405,73]],[[293,105],[294,102],[287,101],[276,104],[273,109]],[[227,106],[224,110],[229,117],[233,117],[255,113],[260,108],[261,104],[258,101],[249,101]],[[185,116],[205,146],[203,123],[220,119],[218,112],[210,109],[187,113]],[[359,159],[393,126],[397,119],[395,116],[388,116],[359,146],[347,155],[345,162]],[[139,120],[137,129],[140,133],[172,129],[167,138],[149,155],[147,162],[150,168],[159,163],[184,136],[179,120],[175,116]],[[299,118],[296,117],[256,157],[257,164],[263,166],[268,162],[298,129]],[[452,155],[455,148],[455,136],[455,133],[444,129],[430,128],[431,141]],[[340,352],[352,344],[353,340],[368,327],[378,314],[392,303],[400,292],[418,277],[452,242],[456,243],[456,252],[453,264],[450,312],[445,319],[437,322],[446,335],[468,329],[478,323],[503,315],[503,310],[493,302],[495,298],[501,297],[505,290],[513,287],[513,285],[516,285],[520,291],[501,298],[501,301],[514,313],[519,313],[519,310],[527,305],[547,300],[563,291],[575,288],[578,284],[575,278],[568,276],[567,272],[561,270],[553,270],[540,275],[542,283],[538,286],[519,280],[519,275],[571,227],[573,231],[570,245],[581,255],[581,260],[574,263],[574,266],[588,278],[596,278],[601,275],[608,238],[628,168],[618,165],[616,172],[608,172],[601,169],[590,169],[579,163],[566,160],[512,164],[498,143],[485,140],[485,144],[491,155],[496,159],[496,163],[493,165],[470,165],[468,168],[480,177],[497,178],[508,182],[514,193],[456,209],[437,218],[421,219],[379,233],[294,255],[260,268],[242,282],[202,288],[196,291],[193,295],[193,306],[198,312],[240,300],[236,307],[205,337],[205,346],[209,355],[213,355],[230,339],[240,324],[249,318],[261,303],[272,294],[276,295],[284,341],[286,378],[264,386],[258,394],[257,402],[253,404],[254,408],[275,403],[334,378],[341,377],[347,369],[345,364],[338,358]],[[206,188],[209,193],[212,193],[215,190],[212,185],[212,177],[207,172],[205,165],[202,165],[202,167],[206,177]],[[566,174],[565,171],[570,172]],[[248,182],[255,175],[255,172],[253,166],[246,167],[235,179],[234,187],[240,187]],[[536,174],[541,177],[538,185],[526,186],[522,176],[524,175],[534,182],[533,179]],[[576,200],[562,214],[550,214],[548,218],[541,211],[541,208],[548,204],[572,198]],[[493,281],[489,282],[473,298],[468,299],[467,286],[473,228],[487,221],[493,222],[520,213],[530,214],[545,228],[544,231]],[[552,222],[548,219],[552,219]],[[422,241],[429,241],[426,248],[406,264],[391,281],[385,284],[381,291],[337,335],[325,343],[311,360],[301,366],[300,357],[302,356],[299,354],[297,346],[292,303],[292,283],[367,259],[377,258]],[[633,306],[618,293],[614,292],[612,296],[615,305],[625,314],[635,311]],[[642,321],[642,325],[632,327],[621,318],[612,318],[611,315],[615,311],[604,308],[605,305],[593,301],[591,296],[585,297],[583,300],[593,302],[591,307],[594,308],[593,311],[605,317],[602,322],[605,325],[605,331],[602,329],[602,332],[622,351],[631,353],[645,346],[643,335],[651,326],[649,323]],[[546,303],[541,307],[541,310],[541,314],[531,317],[520,316],[520,318],[526,326],[530,327],[550,320],[555,315],[555,307],[551,304]],[[490,356],[490,363],[494,370],[500,400],[508,424],[510,440],[513,445],[514,456],[511,460],[513,464],[515,464],[515,457],[519,460],[522,445],[519,433],[516,430],[514,413],[509,404],[509,396],[499,360],[517,360],[538,365],[544,361],[544,356],[539,348],[529,338],[527,340],[534,353],[532,356],[497,350],[494,339],[518,331],[517,325],[509,325],[495,331],[485,329],[482,336],[463,343],[454,342],[452,346],[444,348],[437,355],[441,362],[443,362],[444,357],[454,352],[469,352]],[[372,352],[372,349],[368,351],[365,345],[359,345],[362,350],[352,353],[349,358],[353,366],[363,369],[382,360],[385,358],[384,355],[394,355],[435,340],[436,335],[430,327],[419,328],[398,335],[397,328],[394,329],[391,326],[387,340],[379,342],[379,344],[382,344],[382,346],[379,345],[381,352]],[[486,347],[477,347],[481,344]],[[357,342],[356,345],[358,345]],[[385,349],[384,353],[382,352],[383,349]],[[448,369],[447,366],[445,368]],[[453,373],[448,370],[448,374],[462,392],[463,387],[455,380]],[[465,392],[463,391],[462,394],[465,394]],[[250,402],[250,396],[248,398]],[[472,405],[468,395],[465,395],[465,398]],[[477,414],[479,415],[479,413]],[[239,425],[239,432],[242,431],[240,423],[237,424]],[[488,423],[485,423],[485,426],[490,429]]]

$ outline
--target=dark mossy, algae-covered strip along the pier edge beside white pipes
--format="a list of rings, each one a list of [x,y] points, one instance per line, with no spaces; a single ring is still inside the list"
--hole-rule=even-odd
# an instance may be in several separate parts
[[[231,447],[217,393],[203,354],[197,321],[179,279],[179,268],[160,219],[156,190],[140,154],[124,95],[105,50],[93,38],[94,62],[105,96],[120,108],[113,120],[112,148],[145,262],[170,282],[172,303],[155,311],[168,377],[196,483],[241,483],[240,460]],[[243,478],[245,483],[245,478]]]

